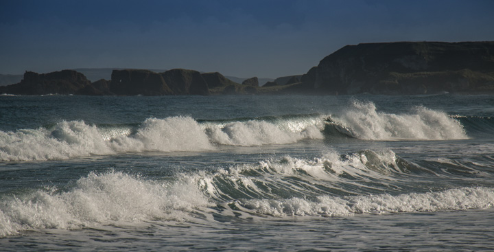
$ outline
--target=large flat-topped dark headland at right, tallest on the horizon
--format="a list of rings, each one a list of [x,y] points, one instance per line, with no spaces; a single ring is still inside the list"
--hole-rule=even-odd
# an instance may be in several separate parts
[[[302,81],[327,93],[420,94],[481,91],[492,73],[494,42],[369,43],[339,49]]]

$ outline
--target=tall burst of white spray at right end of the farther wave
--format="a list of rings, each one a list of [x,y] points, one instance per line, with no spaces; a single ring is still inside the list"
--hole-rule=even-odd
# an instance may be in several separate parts
[[[373,102],[353,101],[351,107],[333,120],[366,140],[448,140],[468,139],[463,126],[446,113],[423,106],[406,114],[377,112]]]

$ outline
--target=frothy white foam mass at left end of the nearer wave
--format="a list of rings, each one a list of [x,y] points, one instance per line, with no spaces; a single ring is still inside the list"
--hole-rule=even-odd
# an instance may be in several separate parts
[[[121,172],[91,173],[72,190],[38,190],[0,202],[0,237],[38,228],[79,229],[143,220],[184,220],[211,206],[195,181],[146,181]]]

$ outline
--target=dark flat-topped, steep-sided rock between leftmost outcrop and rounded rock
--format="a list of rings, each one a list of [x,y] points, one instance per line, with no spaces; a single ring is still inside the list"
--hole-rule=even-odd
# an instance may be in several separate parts
[[[109,88],[116,95],[174,94],[161,74],[138,69],[113,70]]]

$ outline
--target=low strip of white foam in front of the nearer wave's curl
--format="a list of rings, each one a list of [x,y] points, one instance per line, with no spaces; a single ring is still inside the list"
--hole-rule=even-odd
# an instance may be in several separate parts
[[[316,201],[303,198],[287,200],[253,199],[242,206],[270,216],[351,216],[354,214],[389,214],[399,212],[459,211],[494,207],[494,189],[464,187],[444,192],[368,196],[319,196]]]

